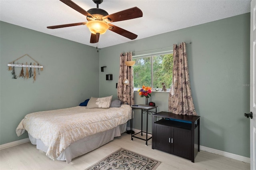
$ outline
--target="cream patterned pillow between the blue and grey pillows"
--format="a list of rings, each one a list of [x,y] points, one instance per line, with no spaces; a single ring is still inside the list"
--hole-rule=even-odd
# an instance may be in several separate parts
[[[91,99],[87,103],[87,108],[109,108],[112,101],[112,96]]]

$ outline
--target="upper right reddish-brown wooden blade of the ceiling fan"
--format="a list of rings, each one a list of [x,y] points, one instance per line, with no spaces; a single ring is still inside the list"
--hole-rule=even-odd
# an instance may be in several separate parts
[[[110,22],[116,22],[116,21],[124,21],[124,20],[130,20],[134,18],[140,18],[142,17],[142,11],[138,7],[130,8],[127,10],[123,10],[120,12],[116,12],[114,14],[110,14],[107,16],[102,17],[102,19],[108,19]]]

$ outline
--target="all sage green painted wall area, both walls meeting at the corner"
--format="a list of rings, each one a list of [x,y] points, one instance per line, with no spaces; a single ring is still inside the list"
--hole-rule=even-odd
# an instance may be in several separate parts
[[[116,99],[120,53],[180,42],[192,42],[187,52],[192,96],[201,116],[200,144],[250,157],[249,119],[243,115],[250,111],[249,13],[102,48],[99,53],[88,45],[0,22],[0,144],[28,137],[15,133],[28,113],[77,106],[91,96]],[[12,79],[7,70],[7,63],[26,53],[44,66],[34,83]],[[31,62],[28,57],[18,61]],[[107,66],[104,72],[102,66]],[[113,80],[106,81],[106,74],[113,74]],[[158,105],[158,111],[168,111],[168,93],[153,92],[149,101]],[[135,102],[144,104],[145,99],[136,92]],[[136,129],[139,113],[135,111]]]

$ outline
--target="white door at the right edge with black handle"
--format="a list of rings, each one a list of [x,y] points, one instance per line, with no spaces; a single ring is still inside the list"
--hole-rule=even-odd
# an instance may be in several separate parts
[[[250,164],[256,170],[256,0],[251,1],[250,39]]]

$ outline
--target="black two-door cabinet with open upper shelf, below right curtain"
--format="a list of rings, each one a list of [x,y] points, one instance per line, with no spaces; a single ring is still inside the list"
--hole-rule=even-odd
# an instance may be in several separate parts
[[[152,149],[194,162],[199,152],[200,116],[156,113],[152,119]]]

